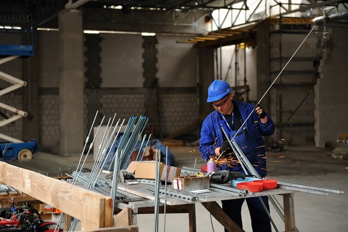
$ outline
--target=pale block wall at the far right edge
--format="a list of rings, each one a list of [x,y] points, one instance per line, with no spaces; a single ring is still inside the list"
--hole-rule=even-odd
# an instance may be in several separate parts
[[[316,147],[339,145],[337,134],[348,132],[347,34],[347,28],[330,28],[320,61],[320,79],[315,86]]]

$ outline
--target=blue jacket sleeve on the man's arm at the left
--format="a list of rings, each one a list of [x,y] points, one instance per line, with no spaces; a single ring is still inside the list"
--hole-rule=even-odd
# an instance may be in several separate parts
[[[215,148],[217,147],[216,136],[213,124],[206,118],[203,121],[200,132],[199,152],[204,160],[209,160],[210,156],[215,156]]]

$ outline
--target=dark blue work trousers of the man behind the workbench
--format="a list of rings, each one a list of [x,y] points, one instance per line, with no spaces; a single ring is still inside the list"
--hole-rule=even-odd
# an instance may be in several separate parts
[[[269,212],[268,197],[263,196],[261,199]],[[224,200],[221,201],[222,209],[235,223],[243,228],[241,212],[244,200],[248,204],[253,232],[271,232],[270,220],[258,197]],[[225,232],[228,231],[225,229]]]

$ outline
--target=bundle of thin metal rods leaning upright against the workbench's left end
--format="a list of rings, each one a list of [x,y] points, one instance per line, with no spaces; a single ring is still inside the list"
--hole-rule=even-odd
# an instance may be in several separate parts
[[[98,152],[96,154],[96,158],[95,158],[95,161],[93,163],[91,173],[89,175],[89,178],[87,178],[87,180],[86,180],[86,176],[84,176],[82,178],[80,178],[80,176],[83,176],[82,170],[83,170],[83,167],[85,165],[87,156],[93,147],[94,139],[96,138],[96,136],[99,132],[99,129],[104,121],[104,117],[103,117],[98,128],[97,128],[96,133],[94,134],[93,141],[89,145],[87,155],[86,155],[86,157],[81,165],[81,161],[82,161],[83,155],[85,153],[87,143],[89,141],[89,136],[90,136],[91,130],[93,128],[97,114],[98,114],[98,111],[96,112],[96,114],[94,116],[91,128],[89,130],[87,139],[85,141],[84,149],[82,151],[81,158],[80,158],[77,170],[76,170],[75,175],[74,175],[73,185],[76,185],[76,183],[78,181],[82,181],[82,182],[85,181],[85,182],[87,182],[87,183],[85,183],[86,189],[91,189],[91,190],[94,190],[96,192],[100,192],[100,188],[94,189],[94,187],[97,186],[100,173],[102,172],[102,170],[105,169],[106,161],[108,160],[110,154],[112,154],[111,153],[112,148],[113,148],[116,140],[119,139],[119,134],[120,134],[120,131],[121,131],[121,128],[123,126],[125,119],[122,120],[120,125],[119,125],[119,122],[121,119],[118,119],[116,124],[113,125],[116,114],[113,116],[112,121],[111,121],[111,118],[109,118],[107,126],[106,126],[106,130],[102,136],[102,140],[101,140],[99,147],[98,147]],[[120,171],[121,167],[125,168],[126,165],[128,165],[128,161],[130,160],[131,154],[134,151],[134,148],[135,148],[141,134],[143,133],[143,131],[145,129],[147,121],[148,121],[148,117],[145,117],[145,116],[140,116],[138,121],[137,121],[137,117],[130,117],[129,121],[127,123],[127,126],[124,130],[124,133],[123,133],[122,137],[119,139],[117,149],[112,154],[113,157],[111,158],[110,166],[108,167],[108,171],[113,171],[113,181],[112,181],[111,191],[109,194],[110,197],[113,199],[112,206],[114,206],[114,200],[117,196],[117,184],[118,184],[119,171]],[[112,126],[114,126],[114,128],[111,131]],[[117,130],[117,128],[118,128],[118,130]],[[117,133],[116,133],[116,130],[117,130]],[[145,138],[146,138],[146,135],[144,135],[142,145],[144,143]],[[149,139],[150,139],[150,136],[149,136]],[[140,148],[140,150],[141,150],[141,148]],[[102,192],[103,192],[103,194],[105,194],[105,191],[102,191]],[[107,193],[107,191],[106,191],[106,193]],[[63,214],[61,215],[61,218],[59,219],[59,221],[57,223],[55,231],[56,230],[59,231],[59,227],[60,227],[62,220],[63,220]],[[74,231],[77,224],[78,224],[78,219],[74,219],[74,221],[70,227],[70,231]]]

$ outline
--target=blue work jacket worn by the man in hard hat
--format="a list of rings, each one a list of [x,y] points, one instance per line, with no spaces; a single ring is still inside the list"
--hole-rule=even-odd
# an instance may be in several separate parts
[[[254,110],[254,105],[233,102],[237,105],[244,122]],[[268,117],[268,120],[263,124],[254,112],[234,138],[261,177],[264,177],[267,174],[265,149],[263,146],[264,142],[261,135],[270,136],[274,133],[273,121],[268,115],[266,116]],[[213,111],[204,119],[199,141],[199,152],[204,160],[208,160],[211,156],[215,156],[215,148],[221,147],[225,137],[225,135],[223,136],[221,126],[224,128],[231,140],[237,131],[231,131],[228,129],[228,126],[218,111]],[[240,164],[238,164],[232,168],[232,171],[243,172],[243,169]]]

